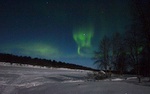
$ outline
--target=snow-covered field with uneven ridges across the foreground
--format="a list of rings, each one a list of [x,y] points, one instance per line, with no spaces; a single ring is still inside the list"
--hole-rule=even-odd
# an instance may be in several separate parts
[[[121,78],[87,81],[89,71],[0,64],[0,94],[150,94],[150,87]]]

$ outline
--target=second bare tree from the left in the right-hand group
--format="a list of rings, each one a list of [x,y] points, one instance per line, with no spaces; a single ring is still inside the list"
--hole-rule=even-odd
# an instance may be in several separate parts
[[[118,73],[123,74],[126,70],[126,52],[123,38],[120,33],[116,32],[112,37],[112,58],[113,67]]]

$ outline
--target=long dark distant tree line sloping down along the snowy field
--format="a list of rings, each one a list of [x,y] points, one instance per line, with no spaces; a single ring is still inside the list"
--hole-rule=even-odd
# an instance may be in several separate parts
[[[70,64],[65,62],[57,62],[55,60],[47,60],[40,58],[31,58],[30,56],[17,56],[12,54],[0,53],[0,62],[6,62],[10,64],[19,64],[19,65],[33,65],[33,66],[41,66],[48,68],[69,68],[69,69],[82,69],[82,70],[94,70],[89,67],[84,67],[81,65]]]

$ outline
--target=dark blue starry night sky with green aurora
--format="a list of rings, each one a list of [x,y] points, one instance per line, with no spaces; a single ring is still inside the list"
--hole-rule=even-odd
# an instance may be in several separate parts
[[[88,67],[104,35],[130,25],[131,0],[0,0],[0,53]]]

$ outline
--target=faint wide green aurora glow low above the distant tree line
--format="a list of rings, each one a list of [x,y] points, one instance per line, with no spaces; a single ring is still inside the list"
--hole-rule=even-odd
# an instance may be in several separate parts
[[[3,49],[7,53],[18,53],[25,56],[41,57],[41,58],[51,58],[57,57],[60,51],[57,47],[39,42],[27,42],[27,43],[17,43],[10,46],[6,46]]]

